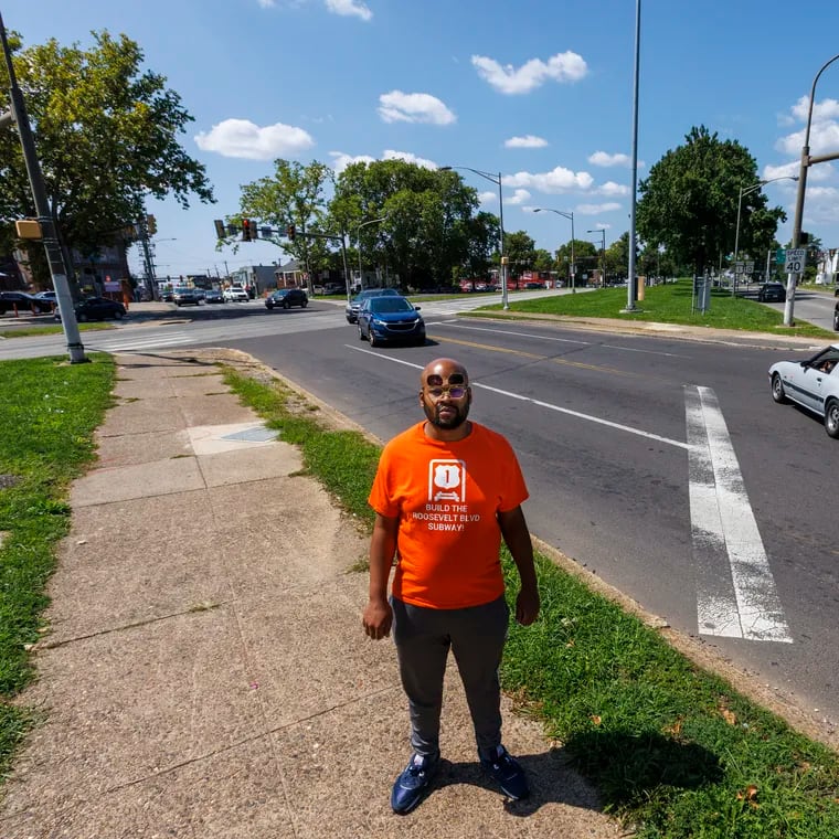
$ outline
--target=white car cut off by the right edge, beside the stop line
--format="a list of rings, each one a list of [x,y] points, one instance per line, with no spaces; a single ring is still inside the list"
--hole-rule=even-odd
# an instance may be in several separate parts
[[[806,361],[778,361],[769,368],[772,399],[795,402],[825,421],[825,431],[839,438],[839,343]]]

